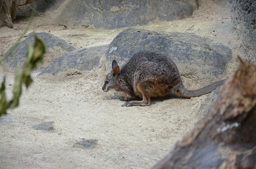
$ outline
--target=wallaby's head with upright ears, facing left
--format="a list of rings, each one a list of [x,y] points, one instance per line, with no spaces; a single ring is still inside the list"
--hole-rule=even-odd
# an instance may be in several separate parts
[[[116,76],[119,74],[119,71],[120,71],[120,68],[117,65],[116,60],[113,60],[112,61],[112,70],[106,76],[104,85],[102,87],[102,90],[104,92],[108,92],[109,90],[113,89],[113,87],[116,83]]]

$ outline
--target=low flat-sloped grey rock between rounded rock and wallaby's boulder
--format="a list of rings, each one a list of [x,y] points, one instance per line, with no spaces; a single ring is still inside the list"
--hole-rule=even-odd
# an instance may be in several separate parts
[[[92,70],[100,66],[101,58],[105,55],[108,45],[83,48],[74,51],[70,54],[62,55],[53,59],[49,66],[44,69],[39,75],[50,73],[56,75],[59,72],[67,71],[68,69],[77,70]]]

